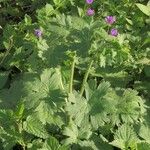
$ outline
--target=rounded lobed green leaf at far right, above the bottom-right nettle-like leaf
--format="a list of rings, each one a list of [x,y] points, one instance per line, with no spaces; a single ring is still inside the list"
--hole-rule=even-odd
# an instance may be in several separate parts
[[[117,104],[117,114],[126,123],[135,123],[143,119],[146,112],[144,100],[135,90],[127,89]]]

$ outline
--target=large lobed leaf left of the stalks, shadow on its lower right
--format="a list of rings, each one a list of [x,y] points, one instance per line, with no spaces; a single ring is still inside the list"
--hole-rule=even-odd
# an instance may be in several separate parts
[[[24,97],[27,109],[37,107],[43,99],[49,107],[60,107],[65,103],[65,93],[60,69],[45,69],[40,75],[25,74],[22,80],[26,95]]]

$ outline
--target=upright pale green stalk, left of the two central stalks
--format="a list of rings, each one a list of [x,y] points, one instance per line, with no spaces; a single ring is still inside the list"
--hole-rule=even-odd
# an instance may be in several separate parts
[[[71,76],[70,76],[70,82],[69,82],[69,93],[72,93],[72,90],[73,90],[74,68],[75,68],[75,56],[73,57],[73,61],[72,61],[72,65],[71,65]]]

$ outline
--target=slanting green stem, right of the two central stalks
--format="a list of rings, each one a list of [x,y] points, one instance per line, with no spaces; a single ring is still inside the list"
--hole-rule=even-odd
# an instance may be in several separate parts
[[[83,95],[83,92],[84,92],[84,89],[85,89],[85,84],[87,82],[87,79],[88,79],[88,76],[89,76],[90,69],[91,69],[92,65],[93,65],[93,60],[91,60],[89,66],[87,68],[87,71],[86,71],[86,73],[84,75],[83,82],[82,82],[82,85],[81,85],[81,90],[80,90],[80,96]]]

